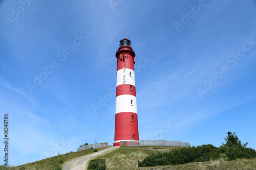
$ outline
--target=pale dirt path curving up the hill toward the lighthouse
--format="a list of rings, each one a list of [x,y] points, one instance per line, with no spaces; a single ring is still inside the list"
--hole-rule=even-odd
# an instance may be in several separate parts
[[[119,147],[112,147],[112,148],[108,148],[108,149],[104,149],[102,151],[98,151],[95,152],[93,154],[89,154],[86,156],[81,156],[79,158],[75,158],[69,162],[67,162],[64,166],[63,166],[63,170],[84,170],[86,169],[87,166],[87,162],[89,159],[105,154],[106,152],[110,152],[114,149],[117,149]]]

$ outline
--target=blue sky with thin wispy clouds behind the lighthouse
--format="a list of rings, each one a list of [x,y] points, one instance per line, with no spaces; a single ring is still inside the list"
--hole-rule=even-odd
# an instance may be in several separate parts
[[[9,164],[113,144],[124,37],[136,53],[141,140],[219,147],[231,131],[256,149],[255,8],[252,0],[0,1]]]

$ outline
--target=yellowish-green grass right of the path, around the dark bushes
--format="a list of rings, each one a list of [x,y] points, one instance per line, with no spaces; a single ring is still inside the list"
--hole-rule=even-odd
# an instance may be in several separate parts
[[[138,160],[142,160],[148,155],[158,152],[168,152],[175,149],[174,147],[121,147],[110,153],[98,156],[96,159],[105,159],[106,169],[241,169],[256,170],[256,159],[237,159],[233,161],[225,161],[218,159],[207,162],[193,162],[182,165],[166,165],[156,167],[137,167]],[[95,158],[93,158],[95,159]]]

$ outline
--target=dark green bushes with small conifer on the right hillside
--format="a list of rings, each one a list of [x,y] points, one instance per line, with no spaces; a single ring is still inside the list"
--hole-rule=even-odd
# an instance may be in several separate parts
[[[237,135],[231,132],[227,133],[226,143],[219,148],[211,144],[176,149],[166,153],[153,154],[147,156],[138,162],[139,167],[145,166],[161,166],[161,165],[178,165],[189,162],[203,162],[223,158],[224,160],[235,160],[239,158],[255,159],[256,151],[246,148],[246,144],[242,144]]]

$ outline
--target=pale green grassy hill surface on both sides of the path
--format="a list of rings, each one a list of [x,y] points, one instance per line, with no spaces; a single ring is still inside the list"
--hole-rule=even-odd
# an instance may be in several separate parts
[[[123,147],[112,152],[106,153],[97,158],[105,159],[107,169],[256,169],[256,159],[237,159],[233,161],[224,161],[223,159],[208,161],[208,162],[193,162],[182,165],[167,165],[158,167],[137,167],[138,160],[144,159],[146,156],[158,152],[168,152],[173,150],[173,147]],[[101,150],[101,149],[100,149]],[[98,150],[99,151],[99,150]],[[71,152],[52,158],[36,161],[20,165],[17,167],[7,168],[13,170],[26,169],[55,169],[55,165],[63,166],[66,162],[93,153],[93,150],[85,150],[79,152]],[[95,159],[95,158],[94,158]],[[60,160],[63,163],[59,163]],[[0,169],[4,169],[1,168]]]

